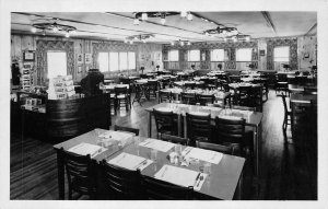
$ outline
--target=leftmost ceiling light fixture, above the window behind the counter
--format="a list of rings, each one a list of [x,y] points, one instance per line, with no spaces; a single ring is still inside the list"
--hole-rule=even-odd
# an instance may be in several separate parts
[[[31,31],[36,33],[37,30],[43,32],[43,35],[46,35],[46,32],[52,33],[63,33],[66,37],[69,37],[70,34],[74,34],[77,32],[77,27],[70,25],[58,24],[57,22],[54,23],[35,23],[32,25]]]

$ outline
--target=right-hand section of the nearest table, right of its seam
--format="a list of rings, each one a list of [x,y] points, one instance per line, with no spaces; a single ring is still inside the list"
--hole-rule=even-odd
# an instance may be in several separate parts
[[[189,154],[192,152],[191,158]],[[206,159],[202,154],[197,158],[196,152],[202,152],[208,158]],[[175,154],[179,158],[172,161],[171,158]],[[216,162],[210,160],[214,155],[219,158]],[[141,163],[137,163],[136,166],[127,162],[125,169],[138,167],[143,176],[179,186],[192,186],[196,199],[232,200],[234,197],[241,199],[244,158],[145,137],[134,137],[134,143],[112,154],[107,162],[116,164],[119,160],[120,163],[117,164],[124,166],[122,158],[126,158],[126,161],[129,162],[132,162],[133,159],[140,159]],[[204,171],[204,166],[210,169]],[[202,177],[199,178],[198,176]]]

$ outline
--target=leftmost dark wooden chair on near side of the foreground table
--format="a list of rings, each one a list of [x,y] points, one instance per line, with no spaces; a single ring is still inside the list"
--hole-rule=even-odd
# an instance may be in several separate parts
[[[86,195],[90,199],[96,197],[94,164],[87,155],[79,155],[60,149],[60,155],[63,158],[66,169],[69,199],[72,199],[73,191],[80,195]]]

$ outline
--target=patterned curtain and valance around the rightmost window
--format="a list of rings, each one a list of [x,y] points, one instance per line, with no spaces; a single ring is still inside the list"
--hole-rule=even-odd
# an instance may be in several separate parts
[[[270,39],[267,43],[267,69],[274,69],[273,61],[273,49],[277,46],[289,46],[290,47],[290,67],[292,70],[298,69],[297,63],[297,38],[293,39]]]

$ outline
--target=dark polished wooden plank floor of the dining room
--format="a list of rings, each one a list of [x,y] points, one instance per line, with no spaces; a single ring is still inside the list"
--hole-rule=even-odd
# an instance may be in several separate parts
[[[154,104],[155,100],[142,106],[134,103],[130,112],[122,111],[112,123],[139,128],[140,136],[147,136],[148,113],[143,108]],[[315,139],[304,129],[297,130],[297,140],[291,139],[290,129],[283,135],[282,100],[273,91],[265,103],[263,113],[260,177],[253,178],[250,169],[246,167],[243,199],[316,200],[317,152],[302,143]],[[154,124],[152,136],[156,136]],[[11,135],[10,198],[58,199],[52,144]]]

